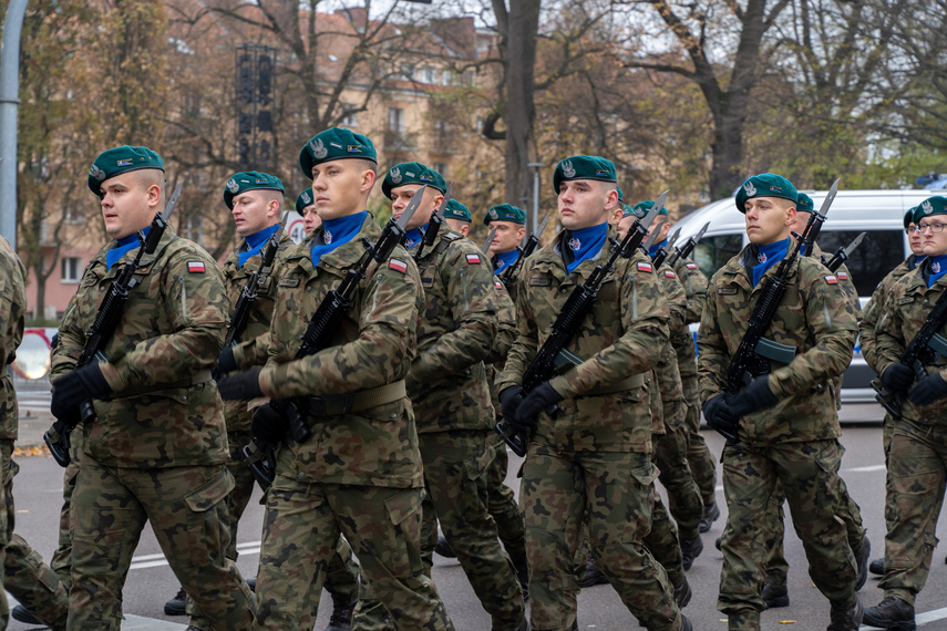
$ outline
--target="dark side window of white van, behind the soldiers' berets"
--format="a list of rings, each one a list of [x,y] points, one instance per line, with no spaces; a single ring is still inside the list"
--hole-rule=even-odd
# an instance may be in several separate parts
[[[836,249],[847,247],[862,230],[825,230],[819,234],[819,247],[826,260]],[[865,240],[845,261],[858,296],[868,297],[887,273],[905,258],[904,232],[900,230],[868,230]]]

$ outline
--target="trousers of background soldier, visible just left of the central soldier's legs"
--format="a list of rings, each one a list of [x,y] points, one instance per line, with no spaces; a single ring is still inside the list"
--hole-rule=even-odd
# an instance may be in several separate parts
[[[523,576],[525,577],[527,568],[526,527],[523,524],[523,514],[519,511],[519,505],[516,504],[513,489],[505,484],[506,473],[509,468],[506,443],[500,434],[493,431],[487,434],[487,443],[493,456],[486,473],[487,510],[496,523],[496,532],[500,535],[500,540],[503,541],[506,554],[513,561],[513,567],[516,568],[517,576],[519,572],[524,572]]]

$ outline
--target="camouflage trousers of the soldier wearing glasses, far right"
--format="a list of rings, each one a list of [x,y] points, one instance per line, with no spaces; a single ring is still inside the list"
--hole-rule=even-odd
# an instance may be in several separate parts
[[[914,604],[937,545],[935,528],[947,486],[947,427],[887,424],[892,433],[885,458],[885,576],[878,587],[886,598]]]

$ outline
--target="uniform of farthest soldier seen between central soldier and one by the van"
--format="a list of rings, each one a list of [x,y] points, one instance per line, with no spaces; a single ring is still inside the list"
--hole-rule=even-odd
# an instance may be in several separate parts
[[[671,330],[671,344],[678,354],[678,370],[687,404],[686,426],[688,430],[687,459],[693,482],[700,489],[703,506],[717,501],[717,459],[710,453],[707,442],[700,434],[700,396],[697,387],[697,346],[693,343],[688,324],[700,322],[703,301],[707,299],[707,277],[693,261],[679,258],[675,262],[675,272],[683,285],[687,294],[687,311],[683,327]]]

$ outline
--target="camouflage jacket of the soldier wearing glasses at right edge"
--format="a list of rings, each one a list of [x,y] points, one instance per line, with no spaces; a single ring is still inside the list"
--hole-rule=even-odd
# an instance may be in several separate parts
[[[884,374],[889,365],[900,359],[904,349],[920,332],[924,321],[940,294],[947,290],[947,278],[940,278],[933,287],[927,287],[928,261],[929,259],[926,259],[916,269],[902,276],[892,285],[891,292],[887,294],[882,316],[875,327],[878,374]],[[938,333],[947,335],[947,325],[941,327]],[[935,359],[939,365],[931,365],[929,363],[931,359]],[[923,363],[929,374],[939,372],[941,377],[947,377],[947,358],[931,352],[931,356],[927,360]],[[902,417],[905,422],[915,425],[922,432],[929,431],[930,425],[947,426],[947,399],[935,401],[923,407],[913,404],[907,396],[903,400]]]

